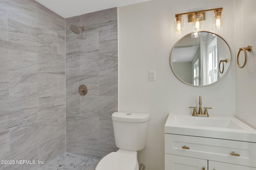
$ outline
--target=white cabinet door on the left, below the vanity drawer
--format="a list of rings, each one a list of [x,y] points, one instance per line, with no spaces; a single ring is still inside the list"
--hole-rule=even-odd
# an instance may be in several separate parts
[[[165,170],[208,170],[208,160],[165,154]]]

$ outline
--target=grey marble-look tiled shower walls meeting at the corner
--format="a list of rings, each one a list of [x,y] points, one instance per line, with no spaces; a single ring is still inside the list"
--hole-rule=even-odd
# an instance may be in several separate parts
[[[76,35],[71,23],[86,30]],[[47,164],[64,152],[100,159],[117,150],[117,94],[116,8],[64,19],[35,0],[0,0],[1,160]]]

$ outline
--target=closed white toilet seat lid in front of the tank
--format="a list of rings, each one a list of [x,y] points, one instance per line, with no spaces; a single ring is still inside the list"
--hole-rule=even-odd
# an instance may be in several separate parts
[[[111,152],[98,163],[96,170],[137,170],[137,160],[132,154]]]

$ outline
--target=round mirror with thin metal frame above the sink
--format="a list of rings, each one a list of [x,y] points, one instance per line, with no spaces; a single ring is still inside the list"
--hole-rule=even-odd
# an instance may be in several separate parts
[[[208,86],[227,74],[232,53],[220,35],[200,31],[185,35],[174,45],[170,63],[172,71],[182,82]]]

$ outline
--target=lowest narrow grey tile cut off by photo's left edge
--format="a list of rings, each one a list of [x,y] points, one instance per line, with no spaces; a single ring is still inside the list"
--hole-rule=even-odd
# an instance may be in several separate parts
[[[10,156],[10,132],[9,129],[0,131],[0,159],[4,160]]]

